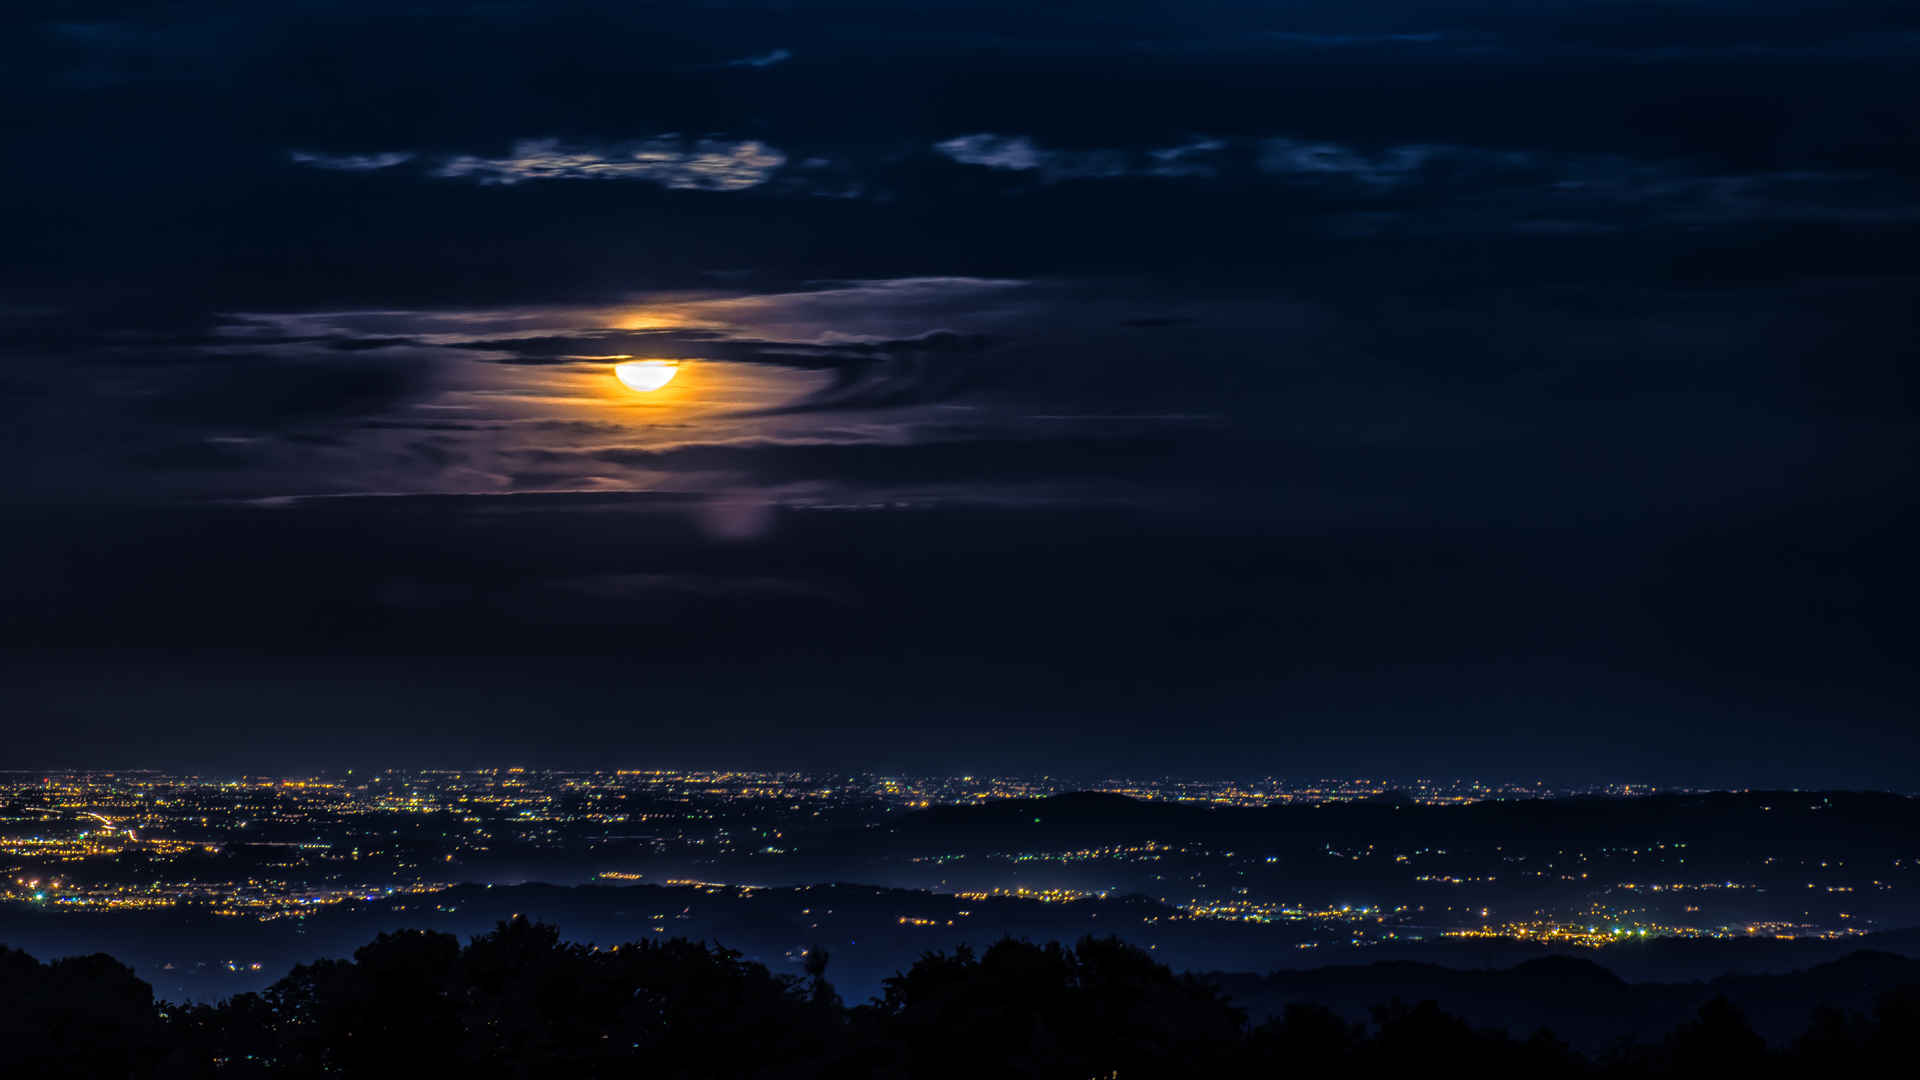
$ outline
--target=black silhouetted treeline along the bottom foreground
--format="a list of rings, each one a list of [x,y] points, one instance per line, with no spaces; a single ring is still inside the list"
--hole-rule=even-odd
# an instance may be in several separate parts
[[[1920,1049],[1920,986],[1872,1015],[1818,1011],[1778,1049],[1715,999],[1659,1042],[1586,1059],[1551,1032],[1475,1030],[1430,1001],[1384,1003],[1369,1024],[1292,1005],[1250,1026],[1215,988],[1114,938],[927,953],[856,1007],[824,972],[818,949],[797,978],[697,942],[593,949],[515,919],[465,947],[382,934],[263,994],[182,1007],[111,957],[42,965],[0,947],[0,1076],[1805,1076],[1905,1072]]]

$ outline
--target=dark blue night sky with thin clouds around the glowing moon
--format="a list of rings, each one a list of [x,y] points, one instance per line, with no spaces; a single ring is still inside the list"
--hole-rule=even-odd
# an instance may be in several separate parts
[[[8,21],[4,767],[1920,788],[1910,2]]]

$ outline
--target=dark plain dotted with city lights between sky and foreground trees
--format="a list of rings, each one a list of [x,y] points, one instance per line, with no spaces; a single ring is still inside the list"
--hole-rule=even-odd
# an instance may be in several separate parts
[[[1916,815],[1887,794],[1484,782],[6,771],[0,936],[108,947],[192,994],[265,984],[342,936],[528,905],[576,934],[724,932],[776,967],[845,936],[860,986],[916,942],[1035,926],[1183,965],[1901,947]]]

